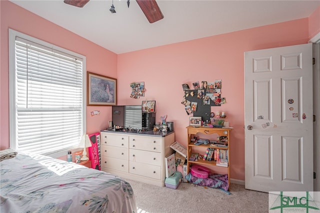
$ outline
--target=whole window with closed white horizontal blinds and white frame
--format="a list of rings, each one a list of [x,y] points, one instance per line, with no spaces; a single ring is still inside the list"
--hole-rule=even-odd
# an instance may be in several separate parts
[[[84,70],[84,56],[9,29],[11,148],[58,156],[78,147]]]

